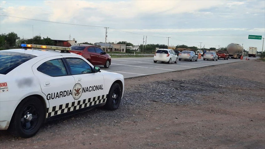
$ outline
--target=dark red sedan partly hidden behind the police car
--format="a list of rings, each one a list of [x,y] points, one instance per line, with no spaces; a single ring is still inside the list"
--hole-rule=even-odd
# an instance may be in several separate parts
[[[108,68],[111,63],[110,56],[98,46],[92,45],[73,45],[70,52],[83,56],[92,65],[104,65]]]

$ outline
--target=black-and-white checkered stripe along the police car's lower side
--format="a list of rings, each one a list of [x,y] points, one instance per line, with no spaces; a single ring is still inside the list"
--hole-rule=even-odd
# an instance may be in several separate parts
[[[96,96],[96,97],[89,98],[89,99],[77,100],[71,103],[60,104],[57,106],[53,106],[52,108],[47,108],[46,118],[50,118],[51,116],[78,110],[81,108],[86,108],[86,107],[93,106],[99,103],[105,103],[107,100],[107,97],[108,97],[108,94]]]

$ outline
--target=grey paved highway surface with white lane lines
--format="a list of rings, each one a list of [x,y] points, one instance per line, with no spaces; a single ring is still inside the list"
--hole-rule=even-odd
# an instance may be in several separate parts
[[[257,59],[253,57],[248,57],[250,60]],[[177,64],[174,62],[171,64],[153,62],[153,57],[137,57],[137,58],[112,58],[111,65],[109,68],[101,67],[102,70],[107,70],[110,72],[117,72],[124,75],[124,78],[131,78],[143,75],[153,75],[164,72],[176,71],[176,70],[186,70],[192,68],[199,68],[211,65],[219,65],[232,62],[245,61],[246,57],[243,60],[240,59],[229,59],[224,60],[220,59],[218,61],[212,60],[203,60],[198,59],[198,61],[178,61]]]

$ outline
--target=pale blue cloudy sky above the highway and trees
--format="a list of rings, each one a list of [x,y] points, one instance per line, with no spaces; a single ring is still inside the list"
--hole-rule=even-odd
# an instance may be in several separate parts
[[[0,0],[0,32],[16,32],[21,38],[34,35],[78,42],[128,41],[147,44],[225,47],[229,43],[262,49],[265,36],[265,1],[9,1]],[[13,17],[6,17],[13,16]],[[15,18],[20,17],[20,18]],[[23,18],[62,22],[33,21]]]

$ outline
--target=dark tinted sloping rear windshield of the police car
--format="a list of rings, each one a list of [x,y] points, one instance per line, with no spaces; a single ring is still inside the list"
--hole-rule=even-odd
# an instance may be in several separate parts
[[[0,51],[0,74],[6,75],[17,66],[34,57],[36,56],[25,53]]]

